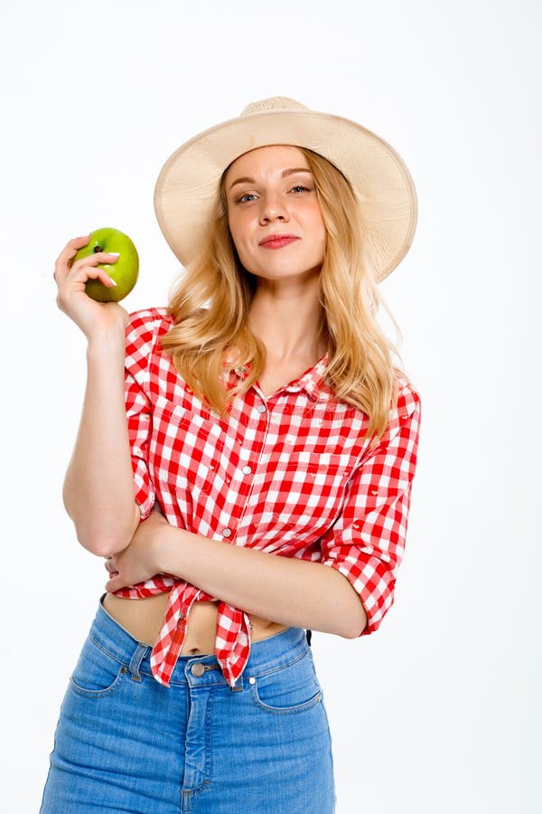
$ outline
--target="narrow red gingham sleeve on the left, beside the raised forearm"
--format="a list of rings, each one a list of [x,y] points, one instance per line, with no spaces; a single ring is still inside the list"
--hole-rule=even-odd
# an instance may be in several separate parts
[[[126,326],[126,420],[134,471],[135,503],[139,506],[141,520],[150,515],[156,499],[148,458],[153,426],[148,382],[150,356],[155,341],[154,322],[151,311],[138,311],[130,315]]]

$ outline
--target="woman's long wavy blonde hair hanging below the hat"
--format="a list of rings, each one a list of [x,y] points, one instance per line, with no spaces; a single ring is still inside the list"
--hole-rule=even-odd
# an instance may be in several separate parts
[[[378,325],[379,307],[387,311],[399,339],[401,332],[369,270],[364,224],[349,182],[327,159],[299,149],[313,173],[327,231],[320,272],[326,380],[337,400],[367,413],[367,436],[378,441],[397,402],[398,369],[392,354],[400,358]],[[265,347],[248,329],[257,280],[241,264],[229,232],[225,175],[207,241],[172,291],[169,313],[174,325],[162,337],[186,383],[221,415],[238,393],[257,381],[266,364]],[[228,390],[225,377],[243,365],[248,367],[247,378]]]

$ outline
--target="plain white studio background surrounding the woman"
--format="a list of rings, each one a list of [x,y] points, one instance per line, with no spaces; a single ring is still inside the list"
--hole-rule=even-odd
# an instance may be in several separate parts
[[[4,5],[7,814],[39,808],[105,582],[61,504],[85,348],[54,260],[117,226],[141,257],[126,308],[164,305],[179,267],[154,220],[158,171],[275,95],[374,130],[419,195],[414,245],[382,284],[424,411],[396,603],[374,636],[313,639],[338,814],[541,810],[540,21],[535,0]]]

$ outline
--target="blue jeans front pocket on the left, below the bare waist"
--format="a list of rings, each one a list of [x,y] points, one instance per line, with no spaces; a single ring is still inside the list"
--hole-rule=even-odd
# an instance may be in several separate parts
[[[126,678],[127,668],[110,656],[90,636],[81,650],[71,674],[70,687],[85,698],[103,698],[117,692]]]

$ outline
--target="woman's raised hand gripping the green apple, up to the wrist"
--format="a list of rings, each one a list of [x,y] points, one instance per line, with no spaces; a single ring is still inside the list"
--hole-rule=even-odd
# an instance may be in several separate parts
[[[75,322],[87,339],[105,332],[119,331],[124,336],[128,313],[117,302],[97,302],[85,290],[88,279],[99,279],[107,288],[114,285],[107,271],[98,263],[115,263],[117,255],[99,251],[73,262],[79,249],[86,246],[90,235],[73,238],[62,249],[54,266],[58,287],[57,305]]]

